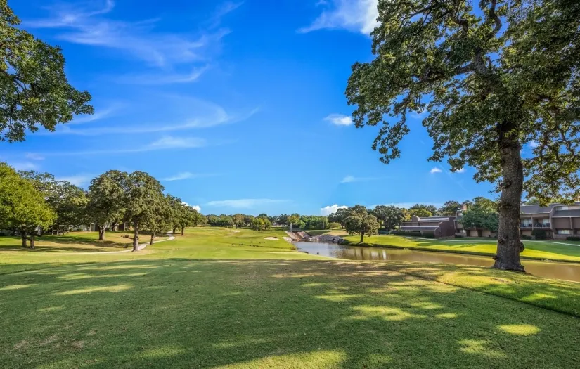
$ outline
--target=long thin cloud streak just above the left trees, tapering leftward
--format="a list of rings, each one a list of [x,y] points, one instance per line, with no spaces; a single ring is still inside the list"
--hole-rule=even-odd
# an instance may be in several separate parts
[[[143,145],[140,148],[112,149],[112,150],[84,150],[84,151],[61,151],[42,153],[42,156],[82,156],[82,155],[115,155],[130,153],[145,153],[155,150],[179,150],[186,148],[202,148],[207,145],[204,138],[198,137],[174,137],[163,136],[156,141]]]

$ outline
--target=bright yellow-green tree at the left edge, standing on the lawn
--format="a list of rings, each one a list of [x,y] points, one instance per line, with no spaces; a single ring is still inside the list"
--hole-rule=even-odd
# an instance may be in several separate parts
[[[30,247],[34,249],[37,228],[51,226],[56,214],[32,182],[0,163],[0,219],[6,226],[20,231],[22,247],[27,246],[27,235],[30,236]]]

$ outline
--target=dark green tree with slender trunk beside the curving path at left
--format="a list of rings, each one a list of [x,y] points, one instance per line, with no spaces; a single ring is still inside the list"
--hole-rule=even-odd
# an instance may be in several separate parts
[[[124,219],[134,228],[133,251],[139,250],[139,231],[155,219],[155,209],[165,202],[163,186],[144,171],[134,171],[127,177],[127,203]]]

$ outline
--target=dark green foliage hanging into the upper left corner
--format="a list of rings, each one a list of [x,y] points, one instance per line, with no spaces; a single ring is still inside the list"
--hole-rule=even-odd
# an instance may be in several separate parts
[[[65,75],[58,46],[34,38],[0,0],[0,141],[23,141],[25,131],[54,131],[77,114],[92,114],[91,95],[77,91]]]

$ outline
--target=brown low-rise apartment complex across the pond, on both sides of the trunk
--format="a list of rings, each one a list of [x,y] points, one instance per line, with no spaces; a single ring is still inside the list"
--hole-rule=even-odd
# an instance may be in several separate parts
[[[401,222],[401,231],[417,233],[430,237],[495,237],[496,234],[486,228],[465,228],[461,217],[465,206],[458,209],[456,216],[413,216],[410,221]],[[522,205],[520,215],[520,233],[532,235],[534,229],[546,231],[546,237],[565,240],[571,235],[580,235],[580,202],[570,205],[550,204]]]

